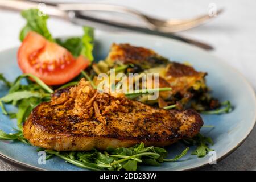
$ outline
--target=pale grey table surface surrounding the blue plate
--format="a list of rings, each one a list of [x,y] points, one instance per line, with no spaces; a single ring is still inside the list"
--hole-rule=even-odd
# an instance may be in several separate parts
[[[55,2],[64,1],[67,2],[67,0],[55,0]],[[83,0],[82,2],[86,1]],[[224,7],[225,12],[216,20],[179,34],[214,46],[215,49],[211,53],[242,72],[256,89],[256,11],[254,9],[256,1],[98,0],[95,2],[118,3],[160,18],[188,18],[205,14],[208,13],[210,3],[215,3],[217,8]],[[0,9],[0,51],[19,45],[18,32],[24,23],[18,13]],[[59,19],[51,18],[48,21],[48,26],[53,36],[82,34],[80,27]],[[254,127],[249,137],[236,151],[218,162],[217,165],[203,167],[201,170],[256,170],[255,138],[256,129]],[[23,167],[0,159],[0,170],[23,169]]]

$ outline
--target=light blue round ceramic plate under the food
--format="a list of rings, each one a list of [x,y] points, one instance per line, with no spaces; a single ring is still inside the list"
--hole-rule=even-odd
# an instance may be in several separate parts
[[[213,139],[212,148],[217,152],[217,159],[222,159],[234,151],[253,129],[256,121],[255,92],[245,78],[224,61],[199,48],[158,36],[96,32],[96,39],[94,55],[97,60],[103,59],[108,54],[109,47],[113,42],[130,43],[154,49],[160,55],[171,60],[181,63],[189,61],[197,70],[208,72],[207,84],[212,88],[213,96],[220,101],[230,100],[234,107],[234,110],[228,114],[202,115],[205,125],[215,126],[214,128],[202,128],[201,133]],[[4,73],[9,80],[14,80],[21,74],[16,63],[17,49],[8,49],[0,53],[0,73]],[[0,84],[0,97],[6,93],[7,88]],[[14,110],[15,108],[7,106],[7,109]],[[15,123],[15,119],[9,119],[0,111],[0,129],[14,132]],[[176,154],[180,154],[184,147],[181,143],[167,147],[168,157],[173,158]],[[178,162],[166,162],[159,167],[141,166],[139,170],[184,170],[208,164],[210,156],[197,158],[197,156],[191,155],[193,149],[192,147],[188,154]],[[0,154],[16,163],[35,169],[82,170],[59,158],[47,160],[45,165],[39,165],[36,148],[20,142],[0,141]]]

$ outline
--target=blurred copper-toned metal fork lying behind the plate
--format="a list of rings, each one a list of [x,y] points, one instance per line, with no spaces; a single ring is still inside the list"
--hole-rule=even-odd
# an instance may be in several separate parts
[[[188,30],[193,27],[197,27],[203,23],[208,22],[214,16],[203,15],[191,19],[156,19],[146,14],[143,14],[137,10],[129,9],[119,5],[97,4],[97,3],[75,3],[75,4],[58,4],[57,7],[63,11],[109,11],[130,14],[140,20],[142,20],[146,27],[152,31],[174,33],[179,31]],[[222,13],[223,9],[217,11],[217,14]]]

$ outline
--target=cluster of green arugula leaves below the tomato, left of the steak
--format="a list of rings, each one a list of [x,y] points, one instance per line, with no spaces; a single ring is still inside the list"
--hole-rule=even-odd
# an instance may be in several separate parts
[[[28,77],[33,78],[32,82]],[[22,79],[26,79],[27,84],[22,84]],[[31,74],[20,75],[13,83],[10,83],[9,93],[0,98],[0,108],[5,115],[10,118],[17,118],[18,130],[22,131],[22,123],[30,115],[32,109],[42,101],[50,100],[52,89],[42,80]],[[18,112],[8,112],[3,103],[11,103],[18,107]]]

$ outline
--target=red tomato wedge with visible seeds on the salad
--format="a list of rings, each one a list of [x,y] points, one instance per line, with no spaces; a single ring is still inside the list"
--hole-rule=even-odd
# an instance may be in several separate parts
[[[18,64],[23,73],[31,73],[47,85],[65,84],[79,75],[89,63],[84,56],[75,59],[64,47],[32,31],[18,51]]]

